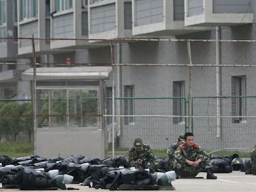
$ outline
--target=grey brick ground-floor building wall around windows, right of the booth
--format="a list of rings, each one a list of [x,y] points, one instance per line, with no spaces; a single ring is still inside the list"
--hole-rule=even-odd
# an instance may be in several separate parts
[[[253,25],[222,27],[222,39],[254,40],[256,28]],[[189,35],[176,36],[181,39],[215,39],[215,29]],[[214,42],[192,42],[193,64],[215,64],[216,45]],[[255,65],[254,43],[221,43],[221,64]],[[97,52],[96,49],[93,52]],[[108,50],[99,50],[101,56]],[[103,54],[105,52],[105,54]],[[96,56],[96,55],[95,55]],[[115,55],[116,58],[116,55]],[[186,42],[124,43],[122,44],[123,63],[146,64],[189,64]],[[246,75],[247,95],[256,95],[255,67],[222,67],[221,94],[231,95],[231,77]],[[122,89],[125,85],[134,85],[135,97],[171,97],[173,81],[185,81],[186,96],[189,94],[188,67],[122,67]],[[192,67],[192,96],[216,95],[215,67]],[[111,80],[108,81],[111,86]],[[124,90],[122,90],[124,91]],[[256,98],[247,99],[247,115],[256,113]],[[135,106],[139,105],[139,102]],[[147,102],[145,102],[147,105]],[[152,105],[153,106],[153,105]],[[208,107],[208,109],[207,109]],[[161,106],[151,110],[135,109],[135,114],[156,114]],[[173,114],[172,102],[164,113]],[[143,111],[144,110],[144,111]],[[231,115],[231,99],[223,100],[223,115]],[[216,99],[195,99],[194,115],[216,115]],[[255,119],[248,118],[247,123],[232,123],[231,118],[221,121],[221,138],[216,138],[216,118],[195,118],[194,133],[196,142],[208,150],[219,148],[250,148],[254,146]],[[129,147],[135,137],[140,136],[152,148],[164,149],[170,141],[175,141],[179,133],[184,132],[184,124],[174,124],[171,118],[136,118],[134,124],[122,125],[120,144]],[[116,127],[117,128],[117,127]],[[237,136],[241,140],[237,142]],[[205,138],[208,138],[205,140]],[[247,142],[245,142],[245,140]],[[241,141],[241,142],[240,142]]]

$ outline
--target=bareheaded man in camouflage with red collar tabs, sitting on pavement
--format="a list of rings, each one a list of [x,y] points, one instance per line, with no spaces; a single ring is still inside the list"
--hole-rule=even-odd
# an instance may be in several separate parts
[[[193,133],[187,132],[184,135],[184,140],[185,143],[181,144],[175,152],[174,170],[176,178],[179,176],[196,177],[204,168],[207,170],[207,179],[216,179],[208,154],[194,143]]]

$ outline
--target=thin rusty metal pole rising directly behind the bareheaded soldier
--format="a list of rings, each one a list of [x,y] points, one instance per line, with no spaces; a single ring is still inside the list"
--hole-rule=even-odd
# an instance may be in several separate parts
[[[192,58],[191,58],[191,48],[190,48],[190,41],[187,41],[187,54],[189,58],[189,131],[192,131],[192,85],[191,85],[191,79],[192,79]]]

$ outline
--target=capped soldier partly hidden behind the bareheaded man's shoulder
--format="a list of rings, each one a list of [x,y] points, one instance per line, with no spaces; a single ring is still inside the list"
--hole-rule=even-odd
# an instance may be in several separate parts
[[[174,152],[177,150],[177,148],[184,143],[184,135],[180,135],[179,138],[177,139],[177,143],[171,144],[168,149],[167,149],[167,155],[168,155],[168,170],[173,170],[174,169]]]

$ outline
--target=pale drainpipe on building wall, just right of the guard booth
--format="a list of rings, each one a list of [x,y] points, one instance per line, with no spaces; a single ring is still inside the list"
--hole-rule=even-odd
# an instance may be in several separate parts
[[[122,62],[122,48],[121,48],[122,44],[121,43],[117,43],[117,64],[121,64]],[[122,97],[122,68],[120,65],[117,65],[116,67],[117,69],[117,74],[116,74],[116,78],[117,78],[117,88],[116,88],[116,94],[117,94],[117,98],[121,98]],[[121,115],[121,100],[117,99],[116,101],[117,104],[117,108],[116,108],[116,114]],[[121,117],[117,117],[117,139],[120,141],[120,137],[121,137],[121,131],[122,131],[122,123],[121,123]],[[117,143],[119,144],[119,143]]]

